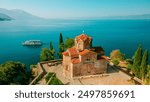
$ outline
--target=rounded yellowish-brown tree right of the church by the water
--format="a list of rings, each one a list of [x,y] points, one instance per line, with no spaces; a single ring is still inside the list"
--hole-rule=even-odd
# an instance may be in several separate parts
[[[120,61],[120,60],[124,60],[125,55],[124,55],[120,50],[113,50],[113,51],[110,53],[110,58],[111,58],[112,60],[118,59],[118,60]]]

